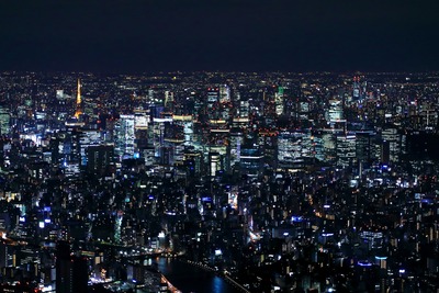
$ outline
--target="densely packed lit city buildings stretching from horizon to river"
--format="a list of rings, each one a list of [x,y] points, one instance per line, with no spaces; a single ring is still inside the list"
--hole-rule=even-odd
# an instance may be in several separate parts
[[[168,292],[162,255],[249,292],[436,292],[438,123],[431,72],[2,72],[0,290]]]

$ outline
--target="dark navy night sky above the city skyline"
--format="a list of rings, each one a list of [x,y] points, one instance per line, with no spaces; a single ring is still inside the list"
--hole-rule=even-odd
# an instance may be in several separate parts
[[[437,0],[0,0],[0,70],[438,69]]]

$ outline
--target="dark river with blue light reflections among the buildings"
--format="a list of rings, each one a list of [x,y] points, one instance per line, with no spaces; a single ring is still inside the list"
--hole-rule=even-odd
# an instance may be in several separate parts
[[[192,264],[167,259],[157,259],[157,267],[162,274],[183,293],[233,293],[238,292],[224,279]]]

